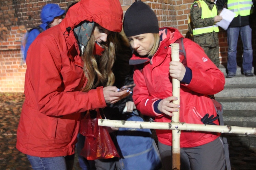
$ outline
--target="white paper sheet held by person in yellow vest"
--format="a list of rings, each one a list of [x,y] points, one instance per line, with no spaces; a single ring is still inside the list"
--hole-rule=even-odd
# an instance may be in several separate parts
[[[224,30],[227,30],[230,22],[233,20],[236,14],[226,8],[223,8],[221,14],[219,15],[222,16],[222,20],[216,22],[216,25],[223,28]]]

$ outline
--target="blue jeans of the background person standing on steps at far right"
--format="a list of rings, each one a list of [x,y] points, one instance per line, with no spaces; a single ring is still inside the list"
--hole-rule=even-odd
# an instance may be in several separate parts
[[[231,27],[227,30],[228,38],[228,73],[237,71],[237,41],[239,32],[243,43],[243,72],[252,71],[253,49],[252,29],[249,25],[243,27]]]

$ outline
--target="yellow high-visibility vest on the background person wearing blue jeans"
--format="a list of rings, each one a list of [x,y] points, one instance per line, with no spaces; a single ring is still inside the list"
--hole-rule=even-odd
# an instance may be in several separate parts
[[[252,0],[228,0],[228,9],[236,14],[247,16],[253,13],[253,2]]]

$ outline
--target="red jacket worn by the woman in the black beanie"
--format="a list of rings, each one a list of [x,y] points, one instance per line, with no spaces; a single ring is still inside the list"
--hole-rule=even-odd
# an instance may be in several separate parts
[[[147,116],[155,117],[155,122],[171,122],[171,117],[154,112],[156,100],[172,96],[172,78],[169,74],[171,61],[170,44],[183,37],[177,29],[168,29],[166,37],[152,59],[141,58],[135,54],[130,64],[144,62],[143,67],[137,65],[133,79],[133,101],[137,109]],[[163,31],[164,32],[164,31]],[[161,32],[160,32],[161,33]],[[192,70],[189,84],[181,84],[180,88],[180,122],[203,124],[201,118],[209,113],[216,116],[215,107],[208,95],[223,90],[225,78],[223,73],[210,61],[203,49],[190,39],[184,39],[187,67]],[[215,120],[214,123],[218,124]],[[156,130],[158,140],[165,145],[172,145],[171,130]],[[219,134],[207,132],[181,132],[181,148],[197,147],[215,140]]]

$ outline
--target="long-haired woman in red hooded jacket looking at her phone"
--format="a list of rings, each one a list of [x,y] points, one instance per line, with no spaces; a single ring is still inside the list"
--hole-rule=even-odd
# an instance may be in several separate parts
[[[122,19],[118,0],[81,0],[31,44],[16,148],[33,169],[72,169],[81,113],[130,94],[112,86]]]

